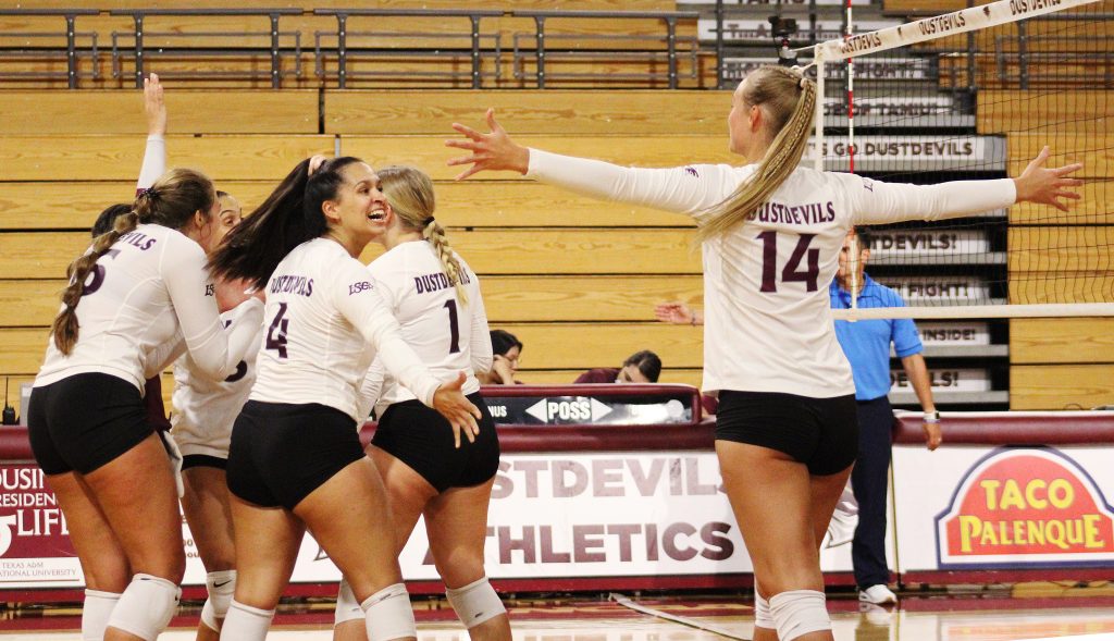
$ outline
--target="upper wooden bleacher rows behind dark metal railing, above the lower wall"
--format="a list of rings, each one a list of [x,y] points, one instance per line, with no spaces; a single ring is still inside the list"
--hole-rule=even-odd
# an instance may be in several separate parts
[[[97,2],[67,3],[75,10],[101,9],[76,20],[76,82],[82,88],[135,86],[137,23],[127,11],[147,11],[143,22],[145,70],[156,70],[179,86],[266,88],[336,87],[472,87],[472,23],[455,2]],[[713,64],[696,51],[696,23],[691,18],[638,17],[634,13],[675,11],[661,0],[579,0],[559,4],[564,12],[589,9],[622,14],[554,17],[539,22],[531,10],[556,7],[549,0],[485,2],[488,13],[476,22],[477,54],[485,87],[525,88],[538,85],[537,33],[544,29],[546,81],[550,87],[671,86],[671,46],[676,47],[676,82],[682,87],[714,86]],[[153,8],[157,7],[157,10]],[[664,7],[664,8],[663,8]],[[0,77],[11,87],[62,88],[68,85],[66,23],[58,16],[2,14],[6,10],[57,9],[57,3],[0,2]],[[211,14],[180,14],[207,11]],[[244,11],[274,10],[242,14]],[[335,16],[343,11],[346,64],[341,74]],[[410,11],[407,16],[358,16],[359,11]],[[218,12],[236,11],[233,14]],[[280,16],[277,11],[283,13]],[[159,12],[177,12],[159,14]],[[272,18],[277,29],[272,42]],[[622,25],[616,28],[616,23]],[[670,27],[674,25],[670,38]],[[35,36],[29,36],[35,33]],[[59,51],[61,55],[59,56]],[[276,67],[272,69],[272,56]],[[277,77],[273,77],[273,72]]]

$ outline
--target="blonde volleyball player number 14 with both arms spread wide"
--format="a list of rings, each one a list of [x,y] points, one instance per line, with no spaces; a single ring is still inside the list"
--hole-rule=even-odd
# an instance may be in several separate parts
[[[887,184],[799,167],[815,84],[763,67],[732,97],[730,145],[746,163],[625,168],[528,149],[488,110],[490,133],[463,125],[450,165],[511,169],[583,194],[694,216],[704,265],[704,388],[719,391],[716,454],[754,564],[755,639],[830,640],[818,541],[858,444],[854,387],[836,341],[827,285],[854,224],[937,220],[1035,202],[1066,210],[1065,177],[1045,148],[1017,178]],[[768,604],[766,604],[768,601]],[[776,632],[774,631],[776,630]]]

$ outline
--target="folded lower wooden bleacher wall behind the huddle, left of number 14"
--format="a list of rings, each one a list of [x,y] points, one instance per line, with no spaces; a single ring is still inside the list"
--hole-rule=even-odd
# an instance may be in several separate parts
[[[46,105],[51,95],[63,101]],[[481,275],[492,327],[526,342],[524,380],[570,382],[584,369],[651,348],[665,360],[663,381],[697,381],[700,330],[653,319],[656,302],[698,302],[688,218],[608,206],[510,174],[455,183],[458,169],[446,161],[457,154],[443,140],[451,122],[480,125],[494,105],[522,142],[554,150],[645,166],[731,162],[722,134],[727,94],[326,91],[319,103],[315,93],[296,90],[170,88],[167,97],[170,164],[204,168],[248,208],[316,152],[431,173],[438,218]],[[12,98],[19,114],[0,130],[0,302],[21,302],[0,312],[0,375],[19,381],[38,368],[61,276],[86,246],[87,226],[106,204],[130,198],[144,135],[134,90]],[[266,113],[255,122],[246,117],[254,107],[229,104],[262,104]],[[86,117],[67,117],[75,113]],[[304,133],[319,122],[324,134]],[[578,134],[560,134],[579,123]],[[282,128],[289,135],[273,133]]]

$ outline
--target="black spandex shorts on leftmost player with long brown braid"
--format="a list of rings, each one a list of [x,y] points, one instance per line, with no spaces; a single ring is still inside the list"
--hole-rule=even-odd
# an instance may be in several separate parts
[[[31,390],[27,431],[46,474],[89,474],[155,433],[139,390],[107,373],[78,373]]]

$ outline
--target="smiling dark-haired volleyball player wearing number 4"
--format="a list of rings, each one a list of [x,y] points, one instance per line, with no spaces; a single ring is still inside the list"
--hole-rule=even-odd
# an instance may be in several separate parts
[[[228,450],[237,576],[222,639],[266,637],[306,530],[351,584],[372,641],[416,635],[383,483],[360,445],[360,386],[378,355],[457,439],[475,440],[482,415],[460,391],[463,372],[441,383],[407,346],[356,260],[383,202],[359,158],[303,161],[211,262],[267,299],[256,381]]]

